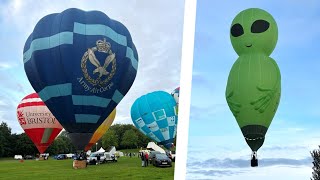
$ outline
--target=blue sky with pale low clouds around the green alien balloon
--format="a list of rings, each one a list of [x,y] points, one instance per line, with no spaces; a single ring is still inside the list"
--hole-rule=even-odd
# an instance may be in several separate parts
[[[282,78],[280,105],[251,168],[251,150],[225,100],[238,58],[229,29],[242,10],[275,18],[279,37],[271,57]],[[198,0],[190,109],[188,179],[310,179],[310,151],[320,144],[320,2]]]

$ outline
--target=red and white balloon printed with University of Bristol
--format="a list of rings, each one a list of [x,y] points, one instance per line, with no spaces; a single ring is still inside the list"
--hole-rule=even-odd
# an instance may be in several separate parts
[[[22,99],[17,107],[17,118],[41,154],[63,129],[37,93]]]

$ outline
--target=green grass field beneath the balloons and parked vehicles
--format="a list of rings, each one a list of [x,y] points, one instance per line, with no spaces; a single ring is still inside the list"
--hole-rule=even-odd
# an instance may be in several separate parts
[[[128,151],[129,152],[129,151]],[[159,168],[149,165],[141,167],[141,160],[135,157],[120,157],[118,162],[88,165],[85,169],[73,169],[72,160],[48,161],[1,159],[0,179],[173,179],[172,167]]]

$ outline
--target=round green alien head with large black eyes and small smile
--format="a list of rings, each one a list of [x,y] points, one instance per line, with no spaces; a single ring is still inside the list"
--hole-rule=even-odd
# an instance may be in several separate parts
[[[268,12],[250,8],[234,18],[230,38],[239,56],[246,53],[263,53],[269,56],[278,40],[278,27]]]

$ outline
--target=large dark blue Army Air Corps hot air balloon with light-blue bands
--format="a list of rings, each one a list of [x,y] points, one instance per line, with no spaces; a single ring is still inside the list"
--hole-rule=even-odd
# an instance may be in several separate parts
[[[133,84],[138,53],[123,24],[72,8],[37,23],[23,62],[32,87],[83,150]]]

